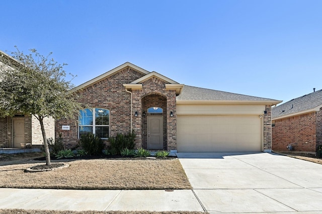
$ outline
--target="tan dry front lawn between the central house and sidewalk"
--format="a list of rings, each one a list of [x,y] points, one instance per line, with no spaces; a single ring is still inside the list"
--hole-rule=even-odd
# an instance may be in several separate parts
[[[39,163],[0,166],[0,187],[57,189],[191,189],[178,159],[93,159],[24,172]]]

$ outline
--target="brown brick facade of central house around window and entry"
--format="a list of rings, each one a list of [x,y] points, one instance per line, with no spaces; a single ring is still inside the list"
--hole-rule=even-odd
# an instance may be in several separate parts
[[[132,130],[136,134],[135,147],[147,148],[147,109],[149,107],[160,107],[164,112],[164,148],[165,150],[176,149],[176,118],[170,117],[170,111],[175,112],[176,91],[166,90],[166,82],[156,77],[151,77],[142,82],[142,89],[133,89],[129,93],[123,84],[143,77],[144,74],[125,68],[107,78],[82,89],[79,102],[90,108],[104,108],[110,111],[110,136],[117,133],[128,133]],[[131,102],[132,97],[132,102]],[[131,111],[132,105],[132,111]],[[146,112],[146,116],[142,112]],[[137,116],[134,112],[138,112]],[[132,124],[131,124],[132,121]],[[69,125],[70,130],[62,130],[62,125]],[[168,127],[171,127],[169,130]],[[174,130],[172,130],[174,129]],[[57,119],[55,123],[55,135],[62,133],[66,147],[72,148],[78,144],[78,124],[70,118]],[[171,136],[170,136],[171,135]],[[105,141],[109,145],[108,141]]]

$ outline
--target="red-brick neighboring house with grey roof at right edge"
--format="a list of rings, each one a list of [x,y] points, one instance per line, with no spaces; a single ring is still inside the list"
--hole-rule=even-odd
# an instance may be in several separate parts
[[[316,152],[322,144],[322,90],[272,108],[274,151]]]

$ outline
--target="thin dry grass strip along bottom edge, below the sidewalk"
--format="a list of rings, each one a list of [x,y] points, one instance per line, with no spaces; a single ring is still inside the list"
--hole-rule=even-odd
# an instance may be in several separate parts
[[[205,214],[198,211],[53,211],[53,210],[25,210],[25,209],[0,209],[6,214]]]

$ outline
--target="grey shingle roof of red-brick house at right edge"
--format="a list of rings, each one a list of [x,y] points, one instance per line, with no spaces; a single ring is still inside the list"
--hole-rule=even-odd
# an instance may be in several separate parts
[[[272,119],[290,117],[312,111],[319,111],[322,107],[322,90],[292,99],[282,105],[272,108]]]

